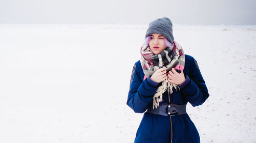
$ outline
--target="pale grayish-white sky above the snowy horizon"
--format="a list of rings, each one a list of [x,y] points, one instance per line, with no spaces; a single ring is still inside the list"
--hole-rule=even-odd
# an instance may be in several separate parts
[[[0,0],[0,23],[255,25],[255,0]]]

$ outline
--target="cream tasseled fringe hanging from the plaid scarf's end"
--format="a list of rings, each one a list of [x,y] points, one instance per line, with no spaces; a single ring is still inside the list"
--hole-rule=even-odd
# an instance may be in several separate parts
[[[174,83],[170,83],[168,82],[167,79],[165,79],[162,82],[162,85],[157,89],[156,94],[153,97],[153,109],[156,107],[159,107],[160,102],[163,101],[163,93],[168,90],[169,95],[173,93],[173,88],[176,89],[176,91],[178,91],[178,89],[180,90],[180,87],[178,87],[178,85],[174,84]]]

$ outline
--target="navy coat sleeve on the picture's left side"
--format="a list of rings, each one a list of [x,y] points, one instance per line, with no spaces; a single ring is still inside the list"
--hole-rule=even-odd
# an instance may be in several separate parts
[[[134,65],[130,80],[130,91],[128,94],[127,105],[135,112],[143,113],[150,105],[157,88],[148,84],[147,80],[143,80],[139,76],[141,65],[138,62]]]

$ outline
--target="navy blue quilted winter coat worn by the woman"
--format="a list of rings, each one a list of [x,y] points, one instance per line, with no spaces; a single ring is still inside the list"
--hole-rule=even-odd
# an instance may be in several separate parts
[[[193,106],[204,103],[209,97],[204,79],[199,70],[197,61],[190,55],[185,55],[184,67],[185,81],[180,91],[174,90],[170,95],[170,103],[182,105],[189,102]],[[149,105],[153,104],[153,96],[156,93],[156,82],[150,78],[144,78],[140,61],[133,67],[130,91],[127,99],[129,105],[135,112],[143,113]],[[168,92],[163,94],[163,102],[168,103]],[[200,142],[199,133],[187,114],[177,116],[161,116],[144,113],[140,126],[136,133],[135,142],[161,142],[161,143],[193,143]]]

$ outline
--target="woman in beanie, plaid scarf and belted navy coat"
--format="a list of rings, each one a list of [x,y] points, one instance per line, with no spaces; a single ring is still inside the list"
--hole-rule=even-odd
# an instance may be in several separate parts
[[[208,96],[196,60],[174,41],[172,22],[166,17],[152,21],[127,99],[135,112],[146,111],[135,142],[200,142],[186,104],[201,105]]]

